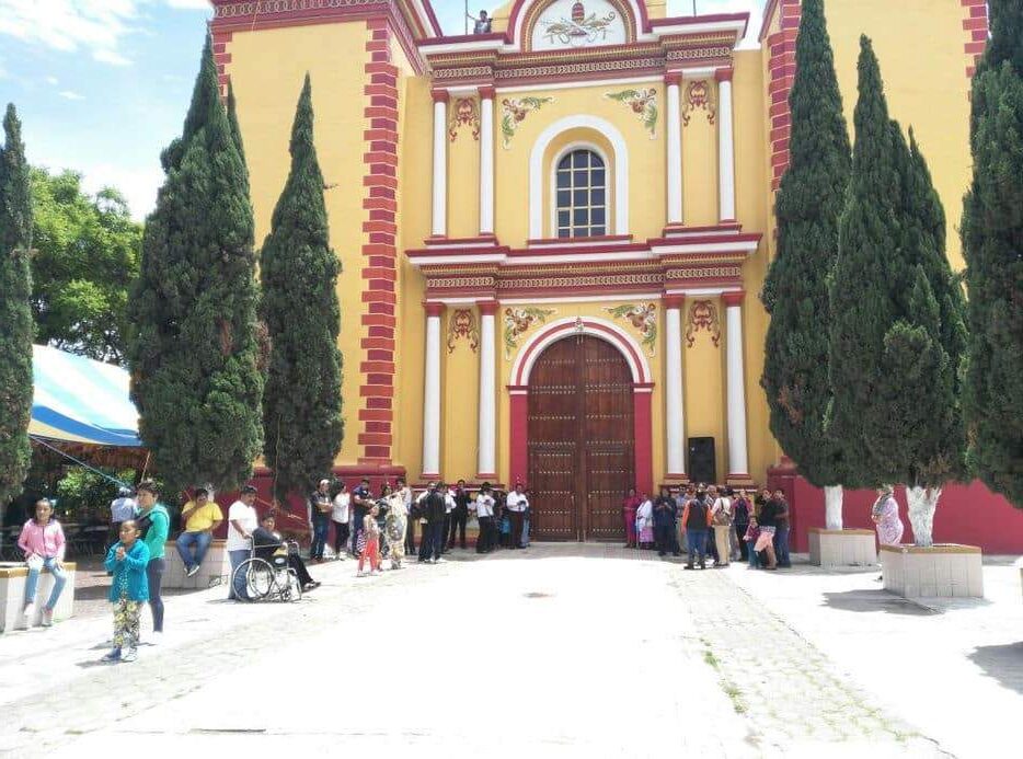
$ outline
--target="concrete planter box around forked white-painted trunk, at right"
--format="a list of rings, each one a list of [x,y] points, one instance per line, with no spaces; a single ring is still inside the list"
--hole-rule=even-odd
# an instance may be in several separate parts
[[[884,587],[905,598],[984,598],[981,559],[976,545],[882,545]]]

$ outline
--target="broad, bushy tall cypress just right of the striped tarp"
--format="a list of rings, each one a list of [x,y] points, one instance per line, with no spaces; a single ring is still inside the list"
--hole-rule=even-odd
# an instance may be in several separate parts
[[[142,240],[130,301],[131,398],[175,488],[239,485],[263,444],[252,205],[207,36],[181,138]]]

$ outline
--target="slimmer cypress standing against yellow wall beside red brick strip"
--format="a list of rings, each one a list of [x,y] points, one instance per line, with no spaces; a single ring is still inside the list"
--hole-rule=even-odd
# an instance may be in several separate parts
[[[291,171],[263,243],[260,274],[271,354],[263,456],[277,495],[308,490],[341,449],[337,256],[330,246],[309,74],[291,127]]]

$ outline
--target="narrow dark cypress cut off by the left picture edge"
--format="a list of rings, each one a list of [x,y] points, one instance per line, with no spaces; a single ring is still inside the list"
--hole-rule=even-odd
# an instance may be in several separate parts
[[[21,490],[32,448],[32,203],[28,164],[14,105],[0,147],[0,514]]]

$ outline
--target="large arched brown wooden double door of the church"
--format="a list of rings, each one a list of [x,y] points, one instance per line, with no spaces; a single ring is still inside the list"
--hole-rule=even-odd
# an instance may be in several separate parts
[[[622,540],[621,502],[635,480],[632,372],[609,343],[572,335],[529,376],[530,534]]]

